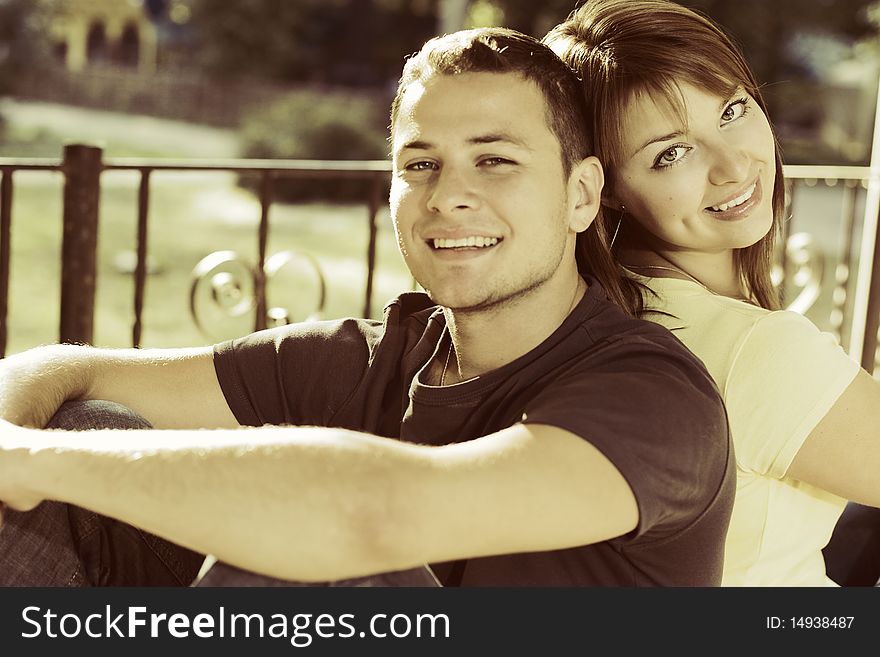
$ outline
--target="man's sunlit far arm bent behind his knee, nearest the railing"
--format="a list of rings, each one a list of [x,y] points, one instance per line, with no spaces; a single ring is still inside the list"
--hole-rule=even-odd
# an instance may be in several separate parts
[[[210,347],[37,347],[0,360],[0,418],[43,427],[65,401],[124,404],[156,428],[236,427]]]

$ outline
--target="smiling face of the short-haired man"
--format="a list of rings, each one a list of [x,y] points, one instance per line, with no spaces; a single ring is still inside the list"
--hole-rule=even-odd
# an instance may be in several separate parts
[[[577,194],[534,83],[513,73],[415,82],[392,150],[398,243],[435,303],[481,310],[571,276]]]

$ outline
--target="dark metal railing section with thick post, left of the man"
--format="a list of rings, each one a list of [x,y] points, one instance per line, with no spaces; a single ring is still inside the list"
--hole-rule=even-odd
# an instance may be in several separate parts
[[[320,160],[114,160],[103,161],[102,150],[82,144],[68,145],[61,162],[0,158],[0,357],[7,345],[7,300],[9,297],[10,238],[12,226],[13,174],[16,171],[56,171],[64,177],[63,233],[61,249],[60,342],[91,343],[97,279],[98,206],[101,174],[107,171],[135,171],[140,174],[137,207],[136,265],[134,269],[134,320],[132,345],[141,345],[144,289],[147,279],[147,226],[150,213],[150,178],[153,172],[220,171],[259,176],[260,222],[257,232],[257,265],[254,268],[256,312],[253,328],[267,326],[265,297],[266,245],[269,209],[273,203],[273,182],[277,177],[312,179],[360,179],[369,183],[364,199],[368,208],[369,239],[363,312],[369,317],[373,302],[376,267],[377,214],[385,203],[383,190],[390,176],[386,161]]]

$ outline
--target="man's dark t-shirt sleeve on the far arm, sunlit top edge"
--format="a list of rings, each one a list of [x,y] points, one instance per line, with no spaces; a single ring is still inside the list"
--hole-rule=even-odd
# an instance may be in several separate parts
[[[379,325],[290,324],[214,346],[214,369],[242,425],[324,425],[366,370]]]

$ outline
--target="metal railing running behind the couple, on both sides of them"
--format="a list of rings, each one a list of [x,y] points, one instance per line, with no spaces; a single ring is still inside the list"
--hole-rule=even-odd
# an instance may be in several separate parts
[[[257,228],[257,264],[253,271],[255,300],[253,328],[265,328],[271,317],[266,307],[266,245],[269,236],[269,209],[275,201],[274,184],[279,178],[359,179],[368,184],[364,203],[368,209],[368,244],[363,314],[371,316],[373,279],[376,268],[377,215],[386,204],[384,191],[390,176],[387,161],[312,160],[103,160],[100,148],[87,145],[65,147],[62,160],[0,158],[0,356],[7,348],[7,311],[10,280],[10,238],[12,233],[13,177],[19,171],[56,171],[64,179],[61,249],[61,298],[58,339],[61,342],[91,343],[95,315],[97,279],[98,210],[101,176],[107,171],[133,171],[139,175],[137,194],[136,262],[134,266],[134,312],[131,344],[141,345],[144,290],[147,281],[148,225],[151,176],[154,172],[201,171],[249,173],[259,177],[260,220]],[[862,366],[873,372],[878,364],[880,330],[880,272],[874,266],[880,259],[860,257],[856,246],[880,246],[876,221],[865,217],[870,204],[865,200],[872,178],[868,167],[789,166],[786,167],[789,214],[777,256],[777,282],[786,292],[786,305],[810,314],[822,308],[817,324],[837,335],[841,343],[858,354]],[[811,189],[837,189],[836,216],[823,216],[821,223],[804,222],[815,214]],[[830,213],[834,214],[834,213]],[[804,225],[802,225],[804,224]],[[833,224],[836,243],[822,242],[817,235]],[[821,230],[819,230],[821,229]],[[825,266],[828,262],[832,267]],[[867,268],[867,270],[865,269]],[[830,272],[830,276],[828,275]],[[855,277],[855,272],[862,275]],[[826,278],[830,281],[826,282]],[[859,283],[856,284],[856,278]],[[865,283],[867,281],[867,283]],[[824,295],[824,296],[823,296]],[[827,302],[819,303],[822,299]],[[864,303],[867,300],[867,303]],[[855,303],[861,301],[861,303]],[[856,317],[859,307],[863,317]],[[864,330],[854,333],[854,327]],[[850,329],[847,332],[847,329]]]

